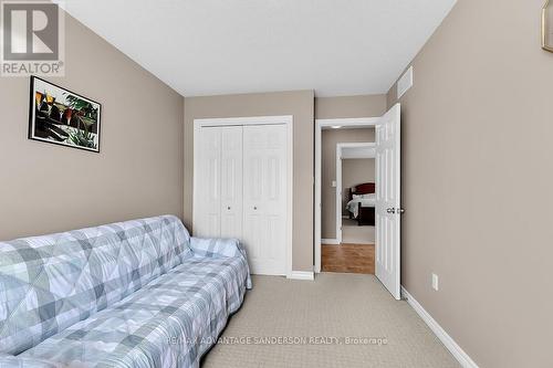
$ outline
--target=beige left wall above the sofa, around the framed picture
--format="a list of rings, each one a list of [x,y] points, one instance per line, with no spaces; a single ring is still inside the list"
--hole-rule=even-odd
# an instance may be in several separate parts
[[[27,139],[29,78],[0,81],[0,240],[182,213],[182,97],[73,18],[65,77],[102,103],[101,154]]]

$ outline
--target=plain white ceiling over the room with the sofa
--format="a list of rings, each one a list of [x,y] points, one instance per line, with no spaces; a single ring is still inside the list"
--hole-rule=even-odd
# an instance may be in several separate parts
[[[65,0],[184,96],[386,93],[456,0]],[[416,73],[416,72],[415,72]]]

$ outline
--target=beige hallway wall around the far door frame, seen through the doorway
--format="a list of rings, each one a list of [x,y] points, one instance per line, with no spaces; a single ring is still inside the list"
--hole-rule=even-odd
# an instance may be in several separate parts
[[[336,145],[375,141],[375,129],[325,129],[321,135],[321,238],[336,239]],[[344,189],[345,190],[345,189]]]

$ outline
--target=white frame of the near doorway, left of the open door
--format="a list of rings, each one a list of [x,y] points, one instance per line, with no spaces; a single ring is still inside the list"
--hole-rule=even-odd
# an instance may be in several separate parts
[[[340,126],[346,128],[368,128],[376,126],[379,117],[315,119],[315,266],[321,272],[321,149],[323,128]],[[334,240],[336,241],[336,240]]]

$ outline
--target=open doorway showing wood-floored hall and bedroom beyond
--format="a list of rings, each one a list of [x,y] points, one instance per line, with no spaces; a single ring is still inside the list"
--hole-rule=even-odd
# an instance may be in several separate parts
[[[321,132],[321,271],[375,272],[375,127]],[[362,207],[363,204],[363,207]],[[368,219],[368,217],[372,219]]]

